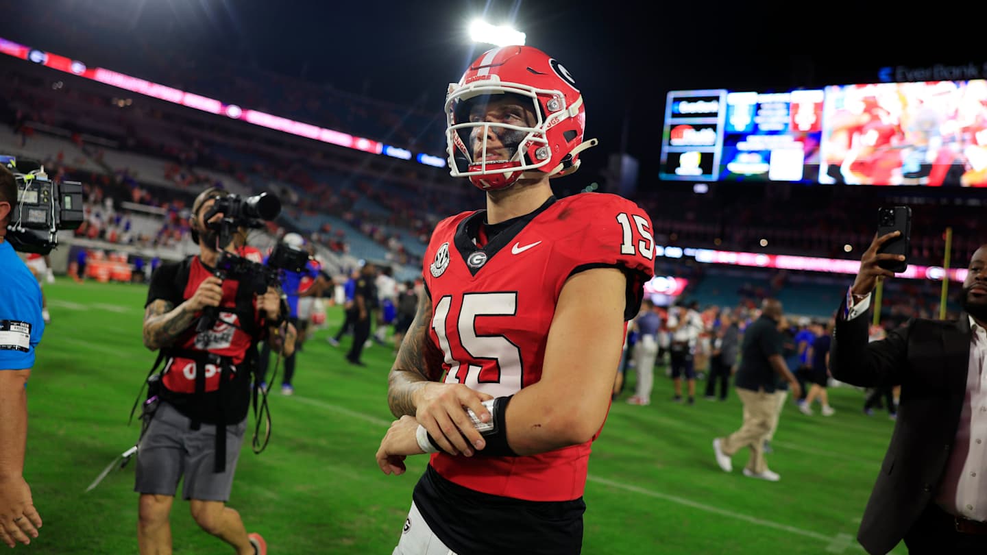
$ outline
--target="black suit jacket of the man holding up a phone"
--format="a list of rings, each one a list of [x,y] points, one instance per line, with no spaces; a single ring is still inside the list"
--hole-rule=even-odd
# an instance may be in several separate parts
[[[946,470],[966,394],[969,318],[913,319],[868,343],[866,314],[849,322],[843,306],[838,314],[833,377],[863,387],[901,385],[894,434],[857,534],[868,553],[884,554],[935,498]]]

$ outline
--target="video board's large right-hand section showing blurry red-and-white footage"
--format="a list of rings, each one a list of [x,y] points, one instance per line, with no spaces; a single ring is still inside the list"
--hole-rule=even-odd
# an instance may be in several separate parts
[[[987,186],[987,81],[825,89],[819,182]]]

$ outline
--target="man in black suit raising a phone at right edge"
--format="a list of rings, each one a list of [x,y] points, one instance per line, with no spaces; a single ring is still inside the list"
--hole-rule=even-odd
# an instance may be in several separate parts
[[[987,245],[970,260],[956,321],[912,319],[868,342],[866,316],[878,254],[875,237],[838,313],[833,377],[863,387],[901,385],[894,435],[857,538],[869,553],[904,539],[912,555],[987,553]]]

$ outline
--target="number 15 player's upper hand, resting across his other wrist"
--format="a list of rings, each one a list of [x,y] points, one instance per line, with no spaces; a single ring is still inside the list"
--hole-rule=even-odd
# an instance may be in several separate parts
[[[473,456],[474,449],[483,449],[487,442],[473,426],[466,408],[481,422],[490,422],[491,414],[484,401],[493,395],[475,391],[459,383],[429,383],[417,392],[416,419],[447,453]]]

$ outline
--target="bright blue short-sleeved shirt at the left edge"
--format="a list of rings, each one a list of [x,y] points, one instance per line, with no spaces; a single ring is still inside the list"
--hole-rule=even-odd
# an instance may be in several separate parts
[[[44,334],[41,287],[10,243],[0,243],[0,370],[35,365]]]

